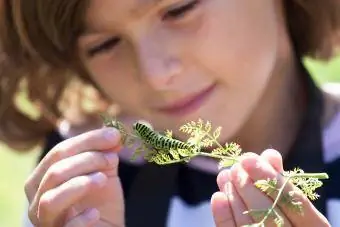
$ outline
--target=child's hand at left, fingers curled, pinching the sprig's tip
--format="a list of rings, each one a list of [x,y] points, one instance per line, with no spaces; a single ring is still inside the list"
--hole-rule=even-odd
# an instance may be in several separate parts
[[[113,128],[89,131],[55,146],[25,184],[33,225],[123,227],[119,149],[120,134]]]

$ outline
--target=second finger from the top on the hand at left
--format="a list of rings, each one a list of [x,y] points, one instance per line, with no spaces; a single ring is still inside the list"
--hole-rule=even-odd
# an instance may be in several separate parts
[[[36,213],[40,197],[46,191],[80,175],[102,171],[117,176],[118,156],[114,152],[84,152],[54,163],[44,175],[29,211]]]

